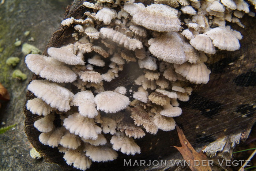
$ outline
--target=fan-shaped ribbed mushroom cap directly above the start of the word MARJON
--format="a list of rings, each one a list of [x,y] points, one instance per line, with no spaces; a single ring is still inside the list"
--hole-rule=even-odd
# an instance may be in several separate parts
[[[124,135],[124,132],[117,132],[110,140],[114,150],[121,149],[121,152],[127,155],[135,155],[140,153],[140,147],[134,142],[132,138]]]

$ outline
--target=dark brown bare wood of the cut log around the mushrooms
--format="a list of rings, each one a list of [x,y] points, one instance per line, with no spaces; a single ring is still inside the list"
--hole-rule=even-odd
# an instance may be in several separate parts
[[[65,18],[73,16],[76,19],[84,18],[82,0],[76,0],[68,7]],[[143,2],[149,4],[150,1]],[[233,24],[234,30],[240,31],[243,38],[240,40],[240,49],[235,52],[220,51],[210,57],[207,66],[211,70],[210,81],[193,87],[192,95],[188,102],[180,103],[182,114],[175,118],[185,136],[196,148],[202,148],[221,138],[231,134],[237,134],[250,130],[255,123],[255,96],[256,96],[256,19],[244,17],[241,22],[245,29]],[[60,26],[50,39],[49,47],[61,47],[74,42],[71,33],[72,27]],[[46,55],[46,50],[44,52]],[[104,83],[107,90],[113,90],[117,86],[125,86],[128,90],[133,87],[133,80],[138,72],[132,64],[125,65],[119,77],[110,83]],[[39,79],[33,75],[32,80]],[[112,87],[114,85],[114,87]],[[27,100],[34,95],[27,92]],[[51,163],[59,164],[63,169],[74,169],[68,166],[63,154],[57,148],[51,148],[38,141],[40,132],[34,128],[34,122],[39,116],[31,114],[24,108],[26,115],[25,130],[29,141],[35,149],[41,153],[44,159]],[[178,151],[170,147],[180,146],[176,130],[169,132],[158,131],[157,135],[146,134],[143,138],[135,140],[141,147],[141,153],[134,156],[123,155],[118,152],[118,158],[105,163],[93,163],[89,170],[139,170],[145,167],[124,166],[124,159],[145,160],[170,160],[180,157]]]

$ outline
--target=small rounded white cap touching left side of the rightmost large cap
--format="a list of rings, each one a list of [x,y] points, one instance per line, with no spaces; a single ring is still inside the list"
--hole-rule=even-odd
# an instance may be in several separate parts
[[[195,38],[190,40],[190,44],[196,50],[203,51],[204,53],[215,54],[216,52],[211,39],[205,34],[196,35]]]

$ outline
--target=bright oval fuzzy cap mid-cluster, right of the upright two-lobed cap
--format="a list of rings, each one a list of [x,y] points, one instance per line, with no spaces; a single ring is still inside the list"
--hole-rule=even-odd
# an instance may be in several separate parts
[[[104,91],[95,96],[97,110],[105,113],[116,113],[125,109],[130,101],[127,96],[121,95],[113,91]]]

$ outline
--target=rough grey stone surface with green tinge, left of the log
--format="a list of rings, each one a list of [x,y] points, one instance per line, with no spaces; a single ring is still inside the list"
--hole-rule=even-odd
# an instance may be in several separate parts
[[[5,0],[0,5],[0,83],[10,93],[11,100],[0,108],[0,128],[17,123],[14,129],[0,134],[0,170],[60,170],[44,159],[32,159],[29,155],[30,142],[24,132],[26,86],[32,77],[27,69],[21,46],[14,46],[16,38],[44,51],[51,35],[64,16],[65,7],[72,0]],[[23,33],[30,31],[29,36]],[[28,41],[34,37],[34,42]],[[17,66],[7,66],[8,57],[20,58]],[[26,73],[27,80],[12,79],[15,69]],[[3,122],[5,124],[3,124]]]

